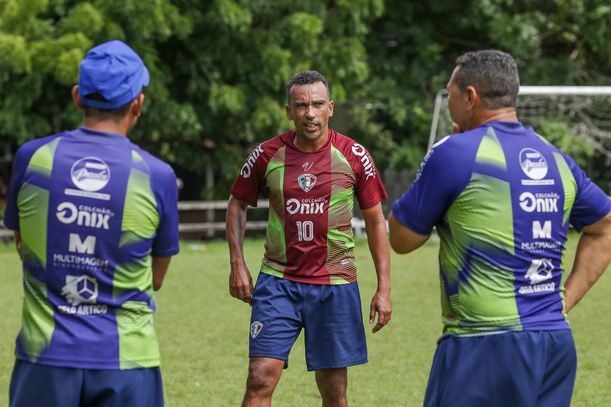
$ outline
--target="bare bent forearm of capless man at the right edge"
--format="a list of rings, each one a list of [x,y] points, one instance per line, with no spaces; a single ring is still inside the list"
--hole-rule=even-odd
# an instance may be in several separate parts
[[[571,275],[565,283],[565,309],[568,313],[596,283],[611,262],[611,212],[586,226],[579,238]]]

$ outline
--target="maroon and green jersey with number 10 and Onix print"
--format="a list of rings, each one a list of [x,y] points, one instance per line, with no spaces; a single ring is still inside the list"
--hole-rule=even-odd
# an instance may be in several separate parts
[[[387,198],[367,149],[329,129],[313,153],[301,151],[295,130],[252,151],[231,193],[257,206],[269,189],[269,223],[261,271],[299,283],[356,281],[352,215]]]

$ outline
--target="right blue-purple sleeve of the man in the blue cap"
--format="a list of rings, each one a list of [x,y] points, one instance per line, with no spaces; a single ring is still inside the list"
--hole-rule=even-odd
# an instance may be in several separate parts
[[[155,174],[153,175],[155,176]],[[172,168],[166,167],[155,176],[155,196],[158,201],[159,226],[153,239],[151,254],[170,257],[180,251],[178,237],[178,186]]]

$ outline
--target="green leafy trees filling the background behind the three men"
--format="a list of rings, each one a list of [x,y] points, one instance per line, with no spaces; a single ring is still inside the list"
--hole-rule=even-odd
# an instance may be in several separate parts
[[[152,74],[130,137],[174,166],[182,200],[225,198],[249,151],[291,128],[285,84],[303,69],[329,79],[332,124],[397,170],[417,168],[465,51],[511,52],[525,85],[611,84],[607,0],[0,0],[0,143],[78,126],[79,62],[117,38]],[[607,178],[592,148],[575,154]]]

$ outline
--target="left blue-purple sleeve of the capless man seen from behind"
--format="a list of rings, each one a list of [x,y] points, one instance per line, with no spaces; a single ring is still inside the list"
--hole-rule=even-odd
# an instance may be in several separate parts
[[[428,236],[456,196],[466,187],[473,168],[471,154],[456,154],[443,139],[433,145],[416,173],[414,184],[392,204],[392,214],[417,234]]]

